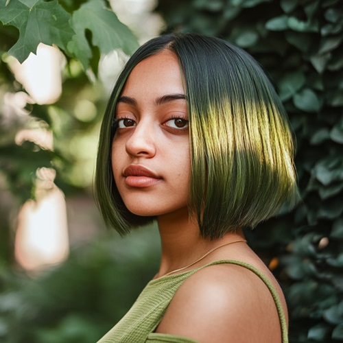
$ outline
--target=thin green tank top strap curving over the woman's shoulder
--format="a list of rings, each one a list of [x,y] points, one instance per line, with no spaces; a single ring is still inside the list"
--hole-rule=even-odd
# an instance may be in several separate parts
[[[288,343],[288,330],[287,330],[287,321],[286,321],[286,317],[285,317],[285,312],[283,311],[283,307],[281,305],[281,300],[279,298],[279,294],[267,276],[265,276],[262,272],[260,272],[257,268],[255,268],[253,265],[250,265],[249,263],[237,261],[237,260],[231,260],[231,259],[223,259],[223,260],[214,261],[214,262],[208,263],[208,264],[198,268],[197,270],[209,267],[210,265],[224,264],[224,263],[235,264],[235,265],[239,265],[243,268],[246,268],[246,269],[250,270],[251,272],[255,273],[257,276],[259,276],[259,278],[263,281],[263,283],[265,283],[265,285],[268,287],[270,293],[272,294],[272,297],[274,299],[274,303],[276,305],[276,309],[277,309],[278,314],[279,314],[282,342]]]

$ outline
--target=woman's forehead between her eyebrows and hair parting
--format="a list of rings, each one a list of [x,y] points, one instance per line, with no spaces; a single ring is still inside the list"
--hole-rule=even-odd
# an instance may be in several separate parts
[[[139,62],[132,69],[121,95],[145,94],[161,96],[168,93],[185,93],[178,58],[169,50],[163,50]]]

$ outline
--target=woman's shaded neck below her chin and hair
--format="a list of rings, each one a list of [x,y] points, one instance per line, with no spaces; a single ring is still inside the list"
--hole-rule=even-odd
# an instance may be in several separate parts
[[[161,235],[162,255],[161,266],[156,277],[197,261],[217,246],[244,239],[241,230],[227,233],[220,239],[204,239],[200,236],[198,223],[189,218],[188,211],[158,217],[158,228]]]

